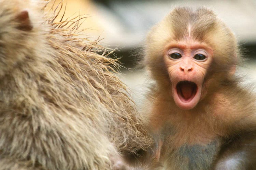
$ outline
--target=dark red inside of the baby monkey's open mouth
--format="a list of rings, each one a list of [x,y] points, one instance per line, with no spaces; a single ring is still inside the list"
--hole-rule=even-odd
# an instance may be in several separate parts
[[[176,85],[177,95],[184,103],[188,103],[196,96],[198,87],[196,83],[190,81],[180,81]]]

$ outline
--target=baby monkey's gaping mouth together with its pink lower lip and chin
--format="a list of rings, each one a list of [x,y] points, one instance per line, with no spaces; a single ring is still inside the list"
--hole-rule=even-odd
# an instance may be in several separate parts
[[[174,102],[183,110],[194,108],[200,100],[202,86],[190,81],[180,81],[172,86]]]

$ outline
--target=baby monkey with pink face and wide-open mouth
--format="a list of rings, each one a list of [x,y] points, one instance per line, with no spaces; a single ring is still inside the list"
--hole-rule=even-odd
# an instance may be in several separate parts
[[[144,119],[165,169],[253,169],[256,97],[234,76],[236,38],[206,8],[177,7],[147,36]],[[148,114],[147,114],[148,113]]]

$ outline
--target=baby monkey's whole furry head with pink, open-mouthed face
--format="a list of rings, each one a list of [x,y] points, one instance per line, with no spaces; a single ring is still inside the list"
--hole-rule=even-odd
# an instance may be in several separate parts
[[[175,8],[146,41],[146,68],[159,89],[184,110],[193,109],[209,89],[230,77],[236,61],[233,33],[206,8]]]

